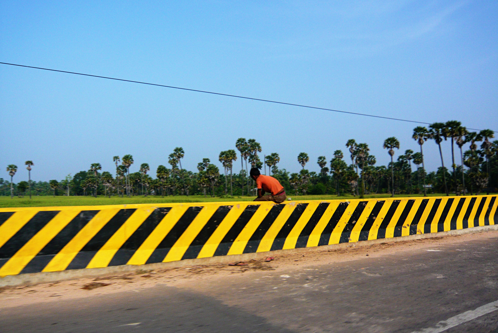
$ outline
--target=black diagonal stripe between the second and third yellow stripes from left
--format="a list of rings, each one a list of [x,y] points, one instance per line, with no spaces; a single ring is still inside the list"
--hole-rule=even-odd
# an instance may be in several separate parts
[[[33,259],[22,269],[24,273],[38,273],[73,239],[74,236],[85,226],[99,211],[82,211],[71,222],[69,222],[45,247],[36,254]]]

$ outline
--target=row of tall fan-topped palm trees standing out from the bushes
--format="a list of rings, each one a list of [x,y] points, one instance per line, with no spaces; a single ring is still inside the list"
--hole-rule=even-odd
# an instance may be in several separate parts
[[[402,155],[402,158],[407,160],[411,169],[411,160],[413,159],[414,164],[420,165],[422,164],[422,174],[423,174],[423,191],[424,195],[427,195],[426,193],[426,179],[425,179],[425,165],[424,165],[424,155],[423,155],[423,144],[427,140],[434,140],[434,142],[438,145],[439,148],[439,155],[441,159],[441,166],[443,170],[445,169],[444,167],[444,160],[443,160],[443,153],[442,153],[442,148],[441,148],[441,143],[443,140],[450,139],[451,140],[451,153],[452,153],[452,168],[453,168],[453,177],[454,177],[454,183],[457,183],[456,175],[457,173],[455,172],[455,169],[457,167],[455,163],[455,154],[454,154],[454,144],[456,143],[458,147],[460,148],[460,157],[461,157],[461,168],[463,169],[464,165],[467,165],[470,168],[470,171],[472,172],[479,172],[479,170],[475,170],[476,166],[479,164],[479,158],[485,158],[486,159],[486,168],[487,168],[487,174],[489,175],[490,169],[489,169],[489,158],[491,155],[491,146],[492,143],[490,142],[491,138],[494,138],[494,131],[491,129],[485,129],[480,132],[470,132],[467,130],[466,127],[462,126],[461,122],[456,121],[456,120],[451,120],[447,121],[446,123],[443,122],[435,122],[432,123],[427,127],[424,126],[417,126],[413,129],[413,134],[412,138],[419,144],[420,146],[420,153],[413,153],[412,150],[407,149],[405,151],[405,154]],[[482,141],[481,148],[482,150],[478,151],[478,146],[477,142]],[[463,152],[463,145],[466,143],[470,143],[470,150],[466,151],[465,153]],[[249,165],[250,167],[256,167],[258,169],[262,169],[263,167],[265,168],[265,174],[266,174],[266,167],[268,167],[269,174],[271,175],[272,172],[275,173],[277,172],[278,168],[276,167],[277,163],[280,161],[280,157],[278,153],[271,153],[269,155],[264,155],[263,156],[263,161],[260,160],[258,153],[261,152],[261,145],[259,142],[256,142],[255,139],[249,139],[246,140],[246,138],[239,138],[237,139],[235,143],[235,147],[240,153],[241,157],[241,176],[244,176],[244,179],[246,179],[246,185],[247,185],[247,193],[249,194],[250,190],[250,185],[249,185]],[[362,195],[365,193],[365,177],[363,177],[364,170],[366,170],[367,167],[373,166],[376,162],[375,157],[373,155],[370,155],[369,151],[370,148],[366,143],[357,143],[354,139],[350,139],[346,142],[346,147],[348,148],[350,152],[350,157],[351,157],[351,162],[352,162],[352,167],[356,169],[356,174],[357,177],[355,179],[354,176],[350,175],[349,177],[349,182],[354,186],[354,191],[356,195],[360,195],[360,191],[362,192]],[[390,169],[391,169],[391,182],[388,184],[391,185],[390,187],[392,188],[391,194],[394,195],[394,149],[399,149],[400,144],[399,140],[395,137],[388,137],[384,140],[383,143],[383,148],[387,149],[387,152],[391,158],[391,163],[390,163]],[[167,169],[165,166],[161,165],[157,169],[157,178],[162,179],[164,182],[166,179],[169,177],[169,175],[174,175],[178,176],[180,179],[187,177],[188,174],[192,174],[190,171],[186,171],[182,168],[181,165],[181,159],[184,157],[185,152],[182,147],[176,147],[171,154],[168,156],[168,163],[171,165],[171,169]],[[327,160],[325,156],[319,156],[318,157],[318,165],[320,166],[320,173],[322,175],[327,175],[327,173],[330,172],[330,174],[334,175],[335,179],[340,179],[342,175],[345,173],[345,170],[347,168],[347,164],[342,160],[344,157],[344,154],[341,150],[336,150],[334,152],[334,158],[330,161],[330,169],[326,167],[327,165]],[[218,160],[222,163],[224,167],[224,173],[225,173],[225,194],[228,194],[228,171],[230,171],[230,195],[233,196],[233,166],[234,166],[234,161],[236,161],[238,158],[238,155],[236,153],[236,150],[234,149],[229,149],[220,152]],[[400,156],[401,158],[401,156]],[[399,160],[399,158],[398,158]],[[130,167],[134,163],[133,161],[133,156],[130,154],[124,155],[122,158],[120,156],[114,156],[113,161],[116,164],[116,180],[117,180],[117,192],[120,193],[121,195],[127,195],[130,196],[133,192],[133,186],[131,186],[130,182]],[[301,165],[302,170],[300,174],[293,174],[294,176],[294,184],[305,184],[306,183],[306,172],[304,172],[304,167],[306,163],[309,162],[309,156],[305,152],[299,153],[297,156],[297,161]],[[26,169],[28,170],[28,175],[29,175],[29,193],[30,193],[30,198],[31,198],[31,167],[34,165],[32,161],[26,161],[25,165],[27,166]],[[362,170],[361,175],[359,173],[359,169]],[[109,172],[104,172],[101,175],[99,174],[99,171],[102,170],[102,165],[100,163],[92,163],[90,166],[90,173],[93,174],[94,177],[88,178],[85,180],[85,184],[82,184],[84,187],[85,191],[87,188],[93,189],[92,194],[94,196],[97,196],[97,188],[99,186],[99,183],[103,184],[105,187],[105,191],[107,193],[107,190],[111,189],[112,187],[112,182],[113,182],[113,176]],[[143,179],[146,179],[149,177],[147,173],[150,171],[150,167],[147,163],[142,163],[140,165],[139,173],[142,175],[141,177]],[[210,186],[213,191],[213,181],[217,179],[216,174],[219,171],[218,168],[210,163],[210,160],[205,158],[203,162],[200,162],[198,164],[198,171],[200,175],[205,174],[205,182],[203,183],[202,177],[200,184],[204,184],[204,190],[205,187]],[[12,192],[12,178],[17,172],[17,166],[10,164],[7,166],[7,172],[10,175],[10,195],[13,197],[13,192]],[[204,174],[201,174],[204,173]],[[443,179],[444,179],[444,190],[446,195],[449,195],[448,191],[448,186],[447,186],[447,180],[446,180],[446,174],[443,172],[442,174]],[[204,177],[204,176],[203,176]],[[149,177],[150,178],[150,177]],[[292,175],[291,175],[292,178]],[[358,178],[361,178],[362,182],[362,187],[358,187]],[[411,180],[410,180],[411,181]],[[489,184],[489,177],[487,178],[488,184]],[[54,194],[55,194],[55,188],[56,188],[56,181],[51,184],[51,187],[54,189]],[[142,181],[142,193],[144,195],[147,194],[147,191],[144,187],[147,187],[147,182]],[[252,184],[253,187],[254,184]],[[336,184],[337,185],[337,184]],[[188,194],[188,182],[182,181],[181,185],[182,187],[182,192],[187,192]],[[338,185],[337,185],[338,186]],[[489,185],[488,185],[489,186]],[[244,184],[241,183],[241,190],[242,190],[242,195],[244,195]],[[463,176],[462,173],[462,189],[463,193],[465,194],[465,177]],[[68,190],[69,192],[69,190]]]

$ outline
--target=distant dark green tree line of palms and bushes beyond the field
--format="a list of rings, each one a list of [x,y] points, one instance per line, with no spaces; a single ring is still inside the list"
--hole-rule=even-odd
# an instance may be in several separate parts
[[[75,196],[175,196],[204,195],[212,197],[254,196],[254,182],[248,177],[252,167],[262,170],[278,179],[289,195],[306,194],[351,194],[363,197],[365,194],[426,194],[450,193],[456,195],[480,194],[483,191],[497,192],[498,187],[498,140],[490,129],[470,132],[459,121],[436,122],[413,129],[412,138],[419,145],[420,152],[406,149],[404,154],[396,155],[400,149],[395,137],[385,139],[383,148],[390,156],[386,166],[375,166],[376,158],[370,154],[367,143],[357,143],[350,139],[346,142],[346,157],[342,150],[334,151],[327,161],[319,156],[317,164],[320,172],[305,169],[309,156],[301,152],[297,162],[301,166],[298,173],[279,169],[278,153],[261,156],[261,145],[255,139],[239,138],[235,149],[220,152],[218,161],[223,173],[209,158],[203,158],[197,165],[197,172],[182,168],[181,159],[185,152],[177,147],[168,156],[169,168],[159,165],[155,178],[150,175],[150,167],[142,163],[139,170],[130,173],[134,164],[133,156],[114,156],[115,172],[102,171],[100,163],[93,163],[87,171],[80,171],[64,180],[32,182],[30,178],[32,161],[26,161],[29,182],[13,183],[17,166],[7,166],[10,182],[0,178],[0,195],[75,195]],[[451,165],[446,167],[443,160],[441,142],[451,141]],[[437,171],[427,173],[424,167],[423,145],[432,140],[438,145],[441,166]],[[470,143],[468,150],[463,146]],[[479,144],[480,143],[480,144]],[[455,158],[455,145],[459,149]],[[480,149],[479,149],[480,148]],[[396,149],[396,151],[394,150]],[[460,155],[460,156],[458,156]],[[460,157],[460,158],[458,158]],[[234,172],[235,163],[241,161],[241,169]]]

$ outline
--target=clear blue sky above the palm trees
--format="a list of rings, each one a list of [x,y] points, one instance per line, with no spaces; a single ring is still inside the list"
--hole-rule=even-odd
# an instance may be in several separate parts
[[[0,61],[498,130],[496,1],[2,1]],[[280,168],[366,142],[418,151],[415,124],[0,65],[0,177],[63,179],[132,154],[153,170],[255,138]],[[443,143],[451,165],[449,141]],[[349,154],[345,154],[349,156]],[[396,152],[396,155],[398,152]],[[427,142],[428,170],[439,165]],[[235,164],[235,170],[240,165]],[[235,171],[234,170],[234,171]],[[3,174],[1,174],[3,172]]]

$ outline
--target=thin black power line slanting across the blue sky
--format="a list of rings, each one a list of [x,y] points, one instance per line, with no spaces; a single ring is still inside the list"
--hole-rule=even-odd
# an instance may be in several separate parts
[[[406,121],[406,122],[414,122],[414,123],[425,124],[425,125],[430,125],[431,124],[430,122],[407,120],[407,119],[400,119],[400,118],[391,118],[391,117],[384,117],[384,116],[381,116],[381,115],[373,115],[373,114],[366,114],[366,113],[349,112],[349,111],[339,111],[339,110],[332,110],[332,109],[326,109],[326,108],[310,107],[310,106],[301,105],[301,104],[277,102],[277,101],[263,100],[263,99],[259,99],[259,98],[244,97],[244,96],[222,94],[222,93],[214,93],[214,92],[208,92],[208,91],[204,91],[204,90],[196,90],[196,89],[188,89],[188,88],[181,88],[181,87],[173,87],[173,86],[159,85],[159,84],[155,84],[155,83],[147,83],[147,82],[141,82],[141,81],[117,79],[117,78],[111,78],[111,77],[107,77],[107,76],[84,74],[84,73],[76,73],[76,72],[68,72],[68,71],[61,71],[61,70],[57,70],[57,69],[50,69],[50,68],[43,68],[43,67],[34,67],[34,66],[26,66],[26,65],[18,65],[18,64],[9,64],[9,63],[6,63],[6,62],[0,62],[0,64],[10,65],[10,66],[18,66],[18,67],[26,67],[26,68],[42,69],[42,70],[45,70],[45,71],[52,71],[52,72],[60,72],[60,73],[76,74],[76,75],[83,75],[83,76],[91,76],[91,77],[94,77],[94,78],[101,78],[101,79],[109,79],[109,80],[116,80],[116,81],[139,83],[139,84],[142,84],[142,85],[149,85],[149,86],[156,86],[156,87],[164,87],[164,88],[187,90],[187,91],[192,91],[192,92],[197,92],[197,93],[205,93],[205,94],[212,94],[212,95],[220,95],[220,96],[243,98],[243,99],[246,99],[246,100],[269,102],[269,103],[283,104],[283,105],[290,105],[290,106],[293,106],[293,107],[309,108],[309,109],[324,110],[324,111],[334,111],[334,112],[349,113],[349,114],[356,114],[356,115],[365,115],[365,116],[368,116],[368,117],[390,119],[390,120],[399,120],[399,121]],[[476,129],[476,128],[469,128],[469,129],[480,130],[480,129]],[[497,131],[494,131],[494,132],[497,133]]]

